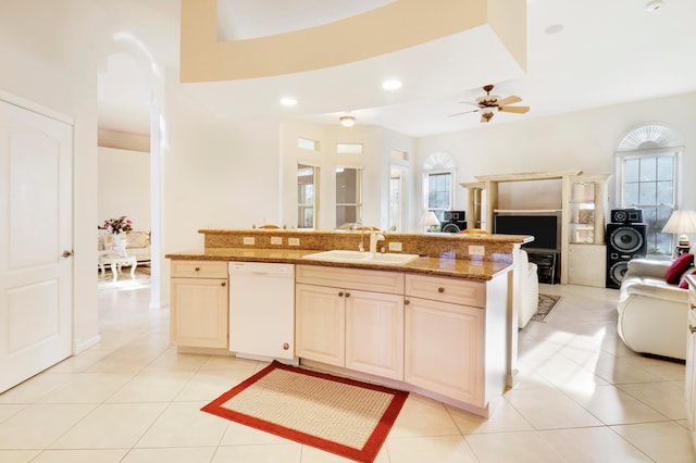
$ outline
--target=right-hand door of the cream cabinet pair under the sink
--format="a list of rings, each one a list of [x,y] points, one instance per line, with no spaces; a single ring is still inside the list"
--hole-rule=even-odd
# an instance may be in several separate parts
[[[348,291],[346,367],[403,380],[403,296]]]

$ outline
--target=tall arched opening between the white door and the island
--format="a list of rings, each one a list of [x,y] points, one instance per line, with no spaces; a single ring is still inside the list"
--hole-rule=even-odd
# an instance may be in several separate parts
[[[98,75],[99,88],[99,178],[100,195],[110,191],[107,204],[99,199],[103,214],[132,215],[117,209],[117,200],[127,198],[135,210],[134,229],[147,234],[147,249],[138,253],[141,267],[150,271],[150,308],[161,306],[161,200],[160,140],[163,77],[159,66],[133,36],[114,36],[114,50],[105,57]],[[110,152],[109,152],[110,151]],[[121,155],[121,159],[119,158]],[[101,158],[110,164],[102,164]],[[103,172],[113,168],[114,172]],[[130,168],[130,171],[129,171]],[[134,170],[137,170],[134,171]],[[142,171],[147,171],[144,175]],[[108,185],[104,185],[108,183]],[[147,183],[147,186],[142,184]],[[130,195],[135,191],[135,195]],[[135,205],[134,205],[135,204]],[[107,212],[109,211],[109,212]],[[111,216],[111,215],[109,215]],[[139,243],[135,243],[137,246]],[[137,251],[137,252],[136,252]],[[145,258],[142,254],[147,254]]]

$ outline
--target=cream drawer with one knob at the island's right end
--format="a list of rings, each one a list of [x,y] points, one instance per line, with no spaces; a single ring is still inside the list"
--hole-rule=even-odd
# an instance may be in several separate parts
[[[486,285],[459,278],[408,274],[406,296],[476,308],[486,306]]]

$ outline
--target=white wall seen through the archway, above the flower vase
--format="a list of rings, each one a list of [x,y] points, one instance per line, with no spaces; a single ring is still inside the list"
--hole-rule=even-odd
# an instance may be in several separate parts
[[[98,225],[126,215],[133,229],[150,230],[150,154],[99,147]]]

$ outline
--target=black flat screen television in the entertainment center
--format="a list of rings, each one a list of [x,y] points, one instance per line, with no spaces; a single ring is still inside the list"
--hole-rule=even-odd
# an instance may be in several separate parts
[[[500,214],[495,216],[494,233],[532,235],[534,241],[522,245],[534,250],[560,251],[559,217],[556,214]]]

